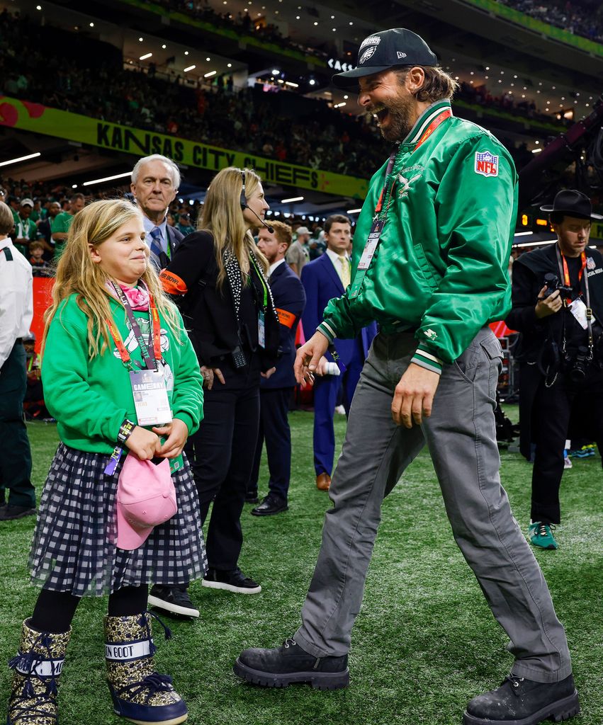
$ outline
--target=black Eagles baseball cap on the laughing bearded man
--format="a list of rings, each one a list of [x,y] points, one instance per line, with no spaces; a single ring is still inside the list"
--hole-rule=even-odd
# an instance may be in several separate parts
[[[336,73],[331,80],[337,88],[350,88],[358,86],[358,78],[403,65],[438,65],[438,58],[423,38],[412,30],[380,30],[361,42],[358,67]]]

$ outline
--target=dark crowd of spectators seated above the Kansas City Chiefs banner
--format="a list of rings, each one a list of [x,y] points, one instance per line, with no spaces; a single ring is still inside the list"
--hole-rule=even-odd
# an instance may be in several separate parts
[[[366,115],[344,115],[327,101],[289,92],[264,93],[259,85],[234,89],[229,79],[221,79],[216,86],[192,88],[179,75],[170,81],[141,70],[125,70],[123,59],[104,43],[94,54],[96,67],[85,67],[66,51],[59,54],[67,45],[73,46],[70,53],[76,52],[85,38],[65,33],[66,42],[57,42],[61,33],[27,17],[0,14],[4,94],[335,173],[369,177],[383,161],[378,129]],[[20,54],[23,43],[30,48],[25,57]],[[92,73],[97,79],[94,87],[89,83]],[[552,120],[533,103],[496,96],[485,86],[463,84],[457,97],[477,110],[490,107],[522,119]],[[505,142],[504,135],[501,140]],[[517,165],[528,160],[525,149],[517,149],[512,141],[506,146]]]

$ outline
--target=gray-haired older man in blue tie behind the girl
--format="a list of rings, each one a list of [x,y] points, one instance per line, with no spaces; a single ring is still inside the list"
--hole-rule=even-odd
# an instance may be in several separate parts
[[[168,208],[176,199],[179,186],[180,170],[167,156],[145,156],[132,169],[130,188],[143,215],[151,262],[157,272],[168,266],[173,252],[184,239],[178,229],[167,223]]]

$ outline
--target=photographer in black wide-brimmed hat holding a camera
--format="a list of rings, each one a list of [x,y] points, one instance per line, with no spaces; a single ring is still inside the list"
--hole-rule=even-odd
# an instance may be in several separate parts
[[[572,410],[603,443],[603,257],[587,249],[592,212],[588,196],[559,191],[550,212],[557,244],[522,254],[512,276],[507,325],[522,334],[520,360],[520,450],[532,475],[530,542],[557,549],[559,486]]]

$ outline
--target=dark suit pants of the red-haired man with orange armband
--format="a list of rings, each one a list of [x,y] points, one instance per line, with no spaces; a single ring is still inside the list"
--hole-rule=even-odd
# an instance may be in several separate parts
[[[292,388],[260,389],[260,431],[248,489],[257,492],[262,448],[268,455],[268,490],[287,500],[291,478],[291,429],[287,413]]]

